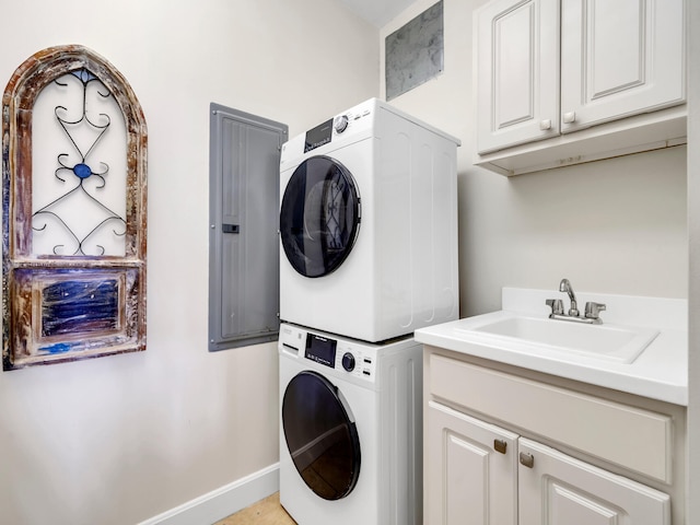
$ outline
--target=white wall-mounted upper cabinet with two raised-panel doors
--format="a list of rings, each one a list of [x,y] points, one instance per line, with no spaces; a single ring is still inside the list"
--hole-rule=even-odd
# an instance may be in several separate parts
[[[643,115],[685,102],[684,24],[684,0],[477,10],[476,163],[515,175],[684,143],[685,106]]]

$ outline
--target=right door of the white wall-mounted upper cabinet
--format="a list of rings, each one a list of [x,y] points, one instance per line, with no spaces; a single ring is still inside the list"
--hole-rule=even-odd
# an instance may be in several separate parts
[[[684,35],[684,0],[562,0],[562,132],[682,103]]]

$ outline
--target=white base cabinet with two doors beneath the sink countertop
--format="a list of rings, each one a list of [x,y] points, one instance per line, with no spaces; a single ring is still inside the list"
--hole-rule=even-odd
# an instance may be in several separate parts
[[[425,524],[684,523],[682,407],[424,349]]]

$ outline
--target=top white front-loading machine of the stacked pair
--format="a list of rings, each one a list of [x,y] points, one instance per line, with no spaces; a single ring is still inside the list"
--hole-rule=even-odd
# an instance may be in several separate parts
[[[370,342],[458,317],[459,141],[376,98],[280,160],[280,317]]]

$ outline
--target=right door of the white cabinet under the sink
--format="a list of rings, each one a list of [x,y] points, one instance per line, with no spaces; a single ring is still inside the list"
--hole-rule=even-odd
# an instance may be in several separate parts
[[[670,524],[670,498],[521,438],[520,525]]]

